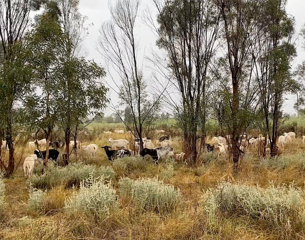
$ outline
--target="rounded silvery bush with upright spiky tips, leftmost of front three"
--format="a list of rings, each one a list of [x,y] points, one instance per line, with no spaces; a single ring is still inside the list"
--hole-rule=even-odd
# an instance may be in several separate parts
[[[104,220],[117,208],[116,191],[111,180],[104,177],[94,178],[93,174],[80,183],[79,191],[65,201],[65,210],[70,216],[85,214],[98,220]]]

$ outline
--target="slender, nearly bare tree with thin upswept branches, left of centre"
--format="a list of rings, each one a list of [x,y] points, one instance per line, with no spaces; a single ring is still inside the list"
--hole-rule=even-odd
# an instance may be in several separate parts
[[[120,78],[121,85],[115,82],[120,105],[130,110],[126,120],[123,120],[123,114],[120,114],[120,118],[140,138],[141,151],[143,126],[149,125],[158,117],[160,95],[155,98],[148,95],[147,82],[139,63],[142,61],[138,58],[136,26],[140,15],[140,1],[118,0],[109,3],[109,10],[111,19],[102,23],[100,29],[99,52],[110,63],[112,73]]]

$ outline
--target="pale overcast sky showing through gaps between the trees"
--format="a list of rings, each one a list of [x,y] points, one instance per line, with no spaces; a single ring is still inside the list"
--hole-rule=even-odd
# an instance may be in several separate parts
[[[144,9],[146,6],[151,7],[152,11],[154,10],[152,7],[152,3],[149,0],[142,0],[141,2],[141,8]],[[89,28],[89,34],[85,40],[85,46],[88,50],[88,59],[94,59],[96,63],[101,64],[102,66],[105,66],[105,61],[102,59],[101,55],[97,51],[97,40],[99,38],[99,28],[101,26],[101,23],[103,21],[109,20],[110,13],[108,9],[108,1],[107,0],[80,0],[79,5],[80,12],[83,15],[88,16],[88,23],[93,23],[93,26]],[[305,1],[304,0],[288,0],[287,3],[287,13],[294,16],[296,20],[296,32],[298,33],[300,31],[301,26],[305,22],[305,15],[304,15],[304,9],[305,9]],[[154,48],[156,37],[155,35],[149,30],[147,26],[145,26],[143,23],[138,23],[138,31],[137,31],[137,38],[140,43],[140,51],[139,55],[149,55],[149,49]],[[305,51],[301,48],[301,44],[299,41],[297,41],[297,53],[298,56],[293,62],[293,69],[296,67],[297,64],[301,63],[303,60],[305,60]],[[149,70],[145,70],[145,65],[148,63],[143,63],[143,72],[145,71],[149,72]],[[107,69],[106,69],[107,71]],[[108,74],[110,74],[108,72]],[[150,74],[150,73],[149,73]],[[111,78],[106,77],[105,79],[106,83],[108,83],[110,86],[113,86],[113,82]],[[113,91],[111,91],[109,97],[114,102],[117,102],[117,97]],[[293,104],[296,100],[296,96],[287,95],[287,100],[285,101],[284,106],[284,112],[293,114],[295,113],[295,110],[293,109]],[[106,114],[112,113],[111,110],[107,109],[105,111]]]

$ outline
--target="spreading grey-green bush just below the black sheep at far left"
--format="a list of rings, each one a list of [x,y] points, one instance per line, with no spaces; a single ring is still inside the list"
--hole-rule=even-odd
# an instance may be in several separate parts
[[[115,172],[111,167],[71,163],[67,167],[50,165],[43,175],[34,175],[30,181],[34,188],[51,189],[59,185],[63,185],[65,188],[72,188],[73,186],[78,187],[90,174],[94,177],[104,176],[105,180],[108,181],[115,178]]]

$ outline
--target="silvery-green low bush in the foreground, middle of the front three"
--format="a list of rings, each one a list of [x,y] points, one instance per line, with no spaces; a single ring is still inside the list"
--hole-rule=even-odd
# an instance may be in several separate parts
[[[154,211],[160,215],[171,213],[180,203],[181,193],[171,184],[156,179],[119,180],[120,193],[130,198],[140,213]]]

